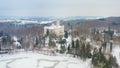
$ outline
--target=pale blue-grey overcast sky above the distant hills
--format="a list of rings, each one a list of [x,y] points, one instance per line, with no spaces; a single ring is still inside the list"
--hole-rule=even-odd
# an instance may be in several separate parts
[[[0,0],[0,16],[120,16],[120,0]]]

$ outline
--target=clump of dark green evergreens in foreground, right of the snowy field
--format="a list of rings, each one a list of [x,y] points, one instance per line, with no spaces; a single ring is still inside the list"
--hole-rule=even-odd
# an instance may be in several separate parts
[[[106,59],[104,53],[101,52],[101,48],[99,48],[99,51],[94,49],[92,64],[94,68],[119,68],[118,64],[116,63],[116,59],[112,55]]]

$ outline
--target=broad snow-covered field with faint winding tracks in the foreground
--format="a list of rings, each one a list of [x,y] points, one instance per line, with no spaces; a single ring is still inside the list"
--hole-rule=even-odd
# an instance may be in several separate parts
[[[33,52],[0,55],[0,68],[90,68],[90,60],[47,56]]]

